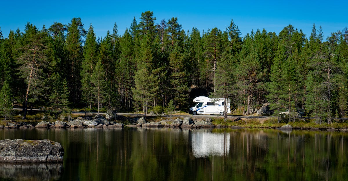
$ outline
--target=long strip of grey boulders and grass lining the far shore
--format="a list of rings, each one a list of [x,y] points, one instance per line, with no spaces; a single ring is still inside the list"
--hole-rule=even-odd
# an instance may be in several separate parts
[[[145,120],[142,118],[128,118],[122,115],[116,115],[110,117],[106,115],[96,115],[95,117],[78,117],[75,120],[70,121],[41,121],[36,125],[27,122],[7,122],[5,126],[0,126],[0,129],[27,129],[27,128],[44,128],[44,129],[74,129],[74,128],[124,128],[127,127],[144,127],[144,128],[257,128],[248,126],[228,126],[223,124],[213,124],[211,118],[207,119],[192,119],[191,117],[185,117],[184,119],[167,119],[158,122]],[[259,128],[270,128],[279,130],[312,130],[312,131],[348,131],[347,128],[300,128],[293,127],[290,124],[272,126],[272,127],[262,127]]]

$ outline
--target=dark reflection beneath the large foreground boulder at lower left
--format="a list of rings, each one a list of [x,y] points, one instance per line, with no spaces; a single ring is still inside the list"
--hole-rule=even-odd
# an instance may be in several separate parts
[[[58,180],[62,173],[62,163],[0,163],[0,178],[11,180]]]

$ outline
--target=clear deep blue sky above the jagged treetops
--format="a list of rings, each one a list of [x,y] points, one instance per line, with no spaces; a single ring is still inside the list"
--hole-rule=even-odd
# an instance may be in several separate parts
[[[153,11],[157,18],[168,20],[177,17],[182,28],[193,27],[202,33],[217,27],[224,30],[231,19],[245,36],[252,30],[266,29],[279,32],[291,24],[309,37],[313,23],[322,26],[324,40],[331,33],[348,27],[347,1],[9,1],[0,2],[0,28],[4,37],[10,29],[24,31],[29,21],[39,29],[48,28],[55,21],[68,24],[73,17],[80,17],[85,29],[92,23],[98,36],[112,32],[114,23],[122,35],[130,27],[133,17],[137,23],[142,12]]]

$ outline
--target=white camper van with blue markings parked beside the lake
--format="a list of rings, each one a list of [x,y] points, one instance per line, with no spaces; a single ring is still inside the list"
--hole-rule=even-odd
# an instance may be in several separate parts
[[[193,99],[197,104],[189,109],[189,114],[219,114],[224,115],[225,99],[224,98],[209,98],[199,96]],[[227,99],[227,113],[231,113],[230,100]]]

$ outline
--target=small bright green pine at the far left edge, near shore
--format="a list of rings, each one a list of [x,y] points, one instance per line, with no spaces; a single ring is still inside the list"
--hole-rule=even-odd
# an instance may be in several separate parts
[[[11,111],[13,108],[11,97],[11,89],[8,81],[5,80],[0,90],[0,115],[3,116],[5,121],[11,117]]]

